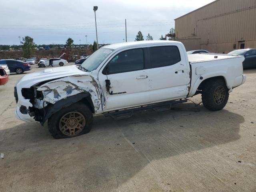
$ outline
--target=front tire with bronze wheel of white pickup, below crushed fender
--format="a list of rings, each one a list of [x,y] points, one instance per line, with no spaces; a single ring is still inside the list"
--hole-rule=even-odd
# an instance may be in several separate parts
[[[74,114],[80,116],[74,116]],[[73,117],[70,117],[70,115]],[[66,120],[65,122],[63,121],[64,119]],[[48,119],[48,129],[55,139],[71,138],[90,132],[92,123],[92,111],[85,104],[78,102],[53,114]],[[60,130],[60,126],[63,128],[62,130]]]

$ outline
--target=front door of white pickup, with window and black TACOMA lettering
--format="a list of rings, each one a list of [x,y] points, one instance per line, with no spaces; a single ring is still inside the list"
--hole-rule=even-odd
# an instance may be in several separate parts
[[[142,48],[117,52],[100,70],[98,78],[106,98],[104,111],[149,103],[148,73]],[[110,88],[106,87],[106,80]]]

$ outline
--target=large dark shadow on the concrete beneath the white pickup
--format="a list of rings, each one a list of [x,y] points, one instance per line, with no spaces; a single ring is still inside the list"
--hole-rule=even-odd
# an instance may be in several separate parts
[[[244,118],[239,114],[211,112],[203,106],[194,112],[192,103],[176,107],[180,110],[140,111],[119,121],[97,116],[90,133],[70,139],[54,140],[47,126],[32,122],[1,130],[5,179],[0,185],[7,190],[15,172],[14,191],[23,190],[21,182],[27,184],[27,191],[41,187],[53,191],[57,182],[72,191],[96,191],[102,185],[114,191],[155,160],[240,138]],[[144,177],[154,180],[150,174]]]

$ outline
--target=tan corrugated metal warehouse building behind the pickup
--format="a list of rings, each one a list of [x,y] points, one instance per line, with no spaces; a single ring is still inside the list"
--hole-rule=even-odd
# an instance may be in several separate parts
[[[256,48],[256,0],[216,0],[176,18],[175,32],[187,50]]]

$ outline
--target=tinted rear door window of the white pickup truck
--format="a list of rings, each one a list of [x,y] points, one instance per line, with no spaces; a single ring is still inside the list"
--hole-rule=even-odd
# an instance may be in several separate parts
[[[180,62],[180,52],[177,46],[150,47],[151,68],[165,67]]]

